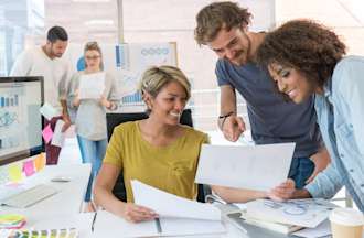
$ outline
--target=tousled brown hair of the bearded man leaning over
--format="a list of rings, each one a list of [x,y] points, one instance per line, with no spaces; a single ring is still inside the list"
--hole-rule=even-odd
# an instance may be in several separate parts
[[[250,23],[251,14],[235,2],[213,2],[196,15],[194,36],[199,45],[212,42],[222,29],[244,28]]]

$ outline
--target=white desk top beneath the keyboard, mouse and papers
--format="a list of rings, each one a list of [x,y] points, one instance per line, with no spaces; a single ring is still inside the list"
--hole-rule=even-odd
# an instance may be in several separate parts
[[[25,186],[38,183],[52,184],[60,192],[29,208],[0,207],[0,213],[19,213],[25,215],[28,223],[25,228],[52,229],[76,227],[79,230],[79,238],[93,238],[90,232],[93,213],[81,213],[82,202],[86,193],[90,174],[89,164],[51,165],[42,172],[26,178]],[[54,183],[51,178],[62,175],[71,177],[67,183]],[[1,190],[1,188],[0,188]],[[223,213],[227,232],[214,236],[188,236],[186,238],[287,238],[288,236],[272,232],[263,228],[254,227],[243,223],[248,234],[244,234],[234,225],[227,221],[227,213],[236,212],[232,205],[217,205]],[[119,236],[118,236],[119,237]]]

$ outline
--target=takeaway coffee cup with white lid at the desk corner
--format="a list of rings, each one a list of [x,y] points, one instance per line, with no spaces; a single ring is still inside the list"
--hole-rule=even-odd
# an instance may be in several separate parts
[[[333,238],[362,238],[364,216],[353,208],[335,208],[329,217]]]

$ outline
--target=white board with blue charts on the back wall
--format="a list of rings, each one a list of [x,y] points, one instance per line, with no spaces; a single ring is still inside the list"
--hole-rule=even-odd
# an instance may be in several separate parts
[[[71,44],[64,55],[74,72],[85,69],[83,47],[81,44]],[[178,64],[175,43],[100,44],[100,47],[104,69],[116,78],[121,110],[143,105],[138,85],[148,67]]]

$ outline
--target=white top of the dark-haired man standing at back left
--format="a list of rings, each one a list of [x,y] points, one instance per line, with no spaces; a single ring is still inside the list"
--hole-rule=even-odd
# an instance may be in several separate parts
[[[44,100],[62,112],[60,100],[66,99],[71,72],[68,64],[62,58],[50,58],[42,46],[22,52],[17,58],[11,76],[43,76]]]

